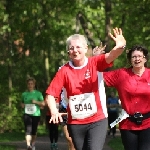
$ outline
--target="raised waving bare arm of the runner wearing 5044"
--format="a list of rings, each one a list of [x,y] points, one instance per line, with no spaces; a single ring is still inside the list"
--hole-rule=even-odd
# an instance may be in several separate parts
[[[126,40],[122,35],[122,30],[119,28],[113,29],[114,35],[109,34],[110,37],[115,41],[116,46],[109,52],[105,54],[106,62],[109,64],[114,61],[119,55],[123,53],[126,46]]]

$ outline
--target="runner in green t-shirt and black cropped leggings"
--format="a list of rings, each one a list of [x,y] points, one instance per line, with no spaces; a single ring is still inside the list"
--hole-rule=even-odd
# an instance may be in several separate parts
[[[40,108],[45,106],[42,93],[35,89],[36,81],[27,79],[27,91],[22,93],[21,107],[24,109],[24,126],[27,150],[35,150],[37,128],[40,121]]]

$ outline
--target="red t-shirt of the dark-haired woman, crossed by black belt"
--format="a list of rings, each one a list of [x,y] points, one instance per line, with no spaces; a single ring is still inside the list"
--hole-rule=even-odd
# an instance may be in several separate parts
[[[150,69],[146,68],[141,77],[134,74],[131,68],[104,72],[103,77],[107,86],[117,89],[122,108],[128,114],[150,112]],[[146,129],[150,127],[150,118],[144,120],[142,125],[125,119],[119,127],[128,130]]]

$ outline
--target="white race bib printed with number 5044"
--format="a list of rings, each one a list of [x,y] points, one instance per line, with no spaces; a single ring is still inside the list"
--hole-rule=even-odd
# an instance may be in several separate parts
[[[69,97],[72,119],[84,119],[97,113],[94,93],[84,93]]]

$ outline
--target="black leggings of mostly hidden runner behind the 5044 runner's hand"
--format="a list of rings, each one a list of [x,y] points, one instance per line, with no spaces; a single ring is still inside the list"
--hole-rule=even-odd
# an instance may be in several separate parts
[[[49,130],[49,139],[50,142],[57,143],[58,141],[58,124],[54,124],[53,122],[49,123],[51,116],[46,116],[46,123]]]

